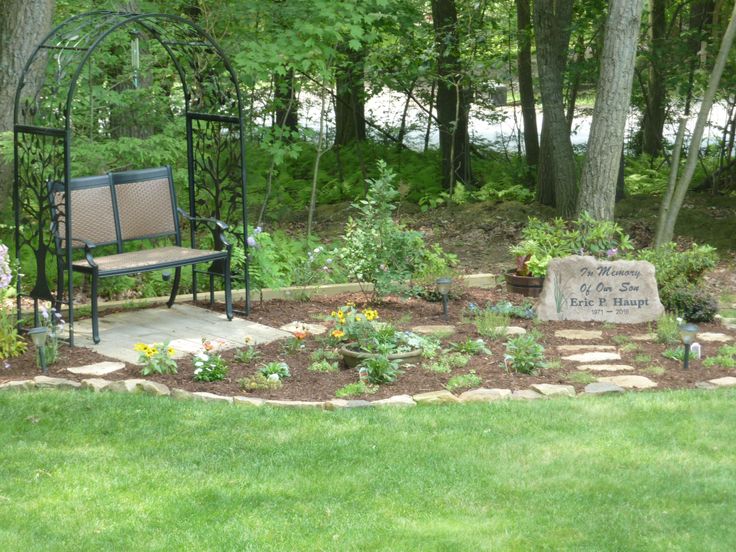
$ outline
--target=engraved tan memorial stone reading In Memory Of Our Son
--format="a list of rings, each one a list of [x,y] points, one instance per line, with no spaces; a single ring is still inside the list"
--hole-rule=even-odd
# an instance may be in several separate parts
[[[663,313],[651,263],[580,255],[550,261],[537,308],[540,320],[619,324],[650,322]]]

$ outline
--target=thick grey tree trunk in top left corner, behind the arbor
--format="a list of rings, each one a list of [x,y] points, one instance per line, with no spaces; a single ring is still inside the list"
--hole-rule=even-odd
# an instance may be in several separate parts
[[[28,57],[51,30],[55,0],[3,0],[0,9],[0,132],[13,130],[15,89]],[[45,63],[38,64],[42,69]],[[29,75],[23,90],[32,95],[40,85],[40,75]],[[35,83],[35,84],[34,84]],[[0,158],[0,213],[9,203],[12,164]]]

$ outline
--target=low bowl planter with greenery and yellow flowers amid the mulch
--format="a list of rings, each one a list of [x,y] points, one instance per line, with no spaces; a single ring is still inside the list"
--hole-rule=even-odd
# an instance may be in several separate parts
[[[342,345],[340,354],[348,368],[367,358],[384,356],[403,364],[416,362],[422,355],[425,338],[379,322],[373,309],[358,311],[349,303],[332,311],[330,318],[335,322],[331,336]]]

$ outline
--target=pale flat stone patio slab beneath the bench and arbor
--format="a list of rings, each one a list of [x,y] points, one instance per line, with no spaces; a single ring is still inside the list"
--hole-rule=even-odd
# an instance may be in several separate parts
[[[74,325],[75,345],[122,362],[138,364],[136,343],[163,343],[174,348],[174,358],[200,350],[202,339],[220,341],[220,350],[242,347],[245,338],[253,344],[270,343],[291,337],[289,332],[251,322],[243,318],[228,321],[223,313],[192,305],[174,305],[135,311],[123,311],[100,318],[100,343],[92,341],[92,321]]]

